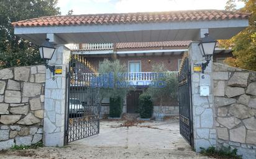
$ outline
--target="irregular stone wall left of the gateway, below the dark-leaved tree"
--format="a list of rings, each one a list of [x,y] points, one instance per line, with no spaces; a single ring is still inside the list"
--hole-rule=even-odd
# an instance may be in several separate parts
[[[45,66],[0,70],[0,150],[42,140]]]

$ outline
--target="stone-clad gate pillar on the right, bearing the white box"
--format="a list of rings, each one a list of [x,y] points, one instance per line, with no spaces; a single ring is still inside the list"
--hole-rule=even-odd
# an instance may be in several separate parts
[[[201,55],[198,42],[193,42],[188,48],[191,65],[191,88],[192,88],[192,109],[193,109],[193,129],[194,129],[194,148],[200,152],[200,147],[208,148],[216,146],[216,129],[214,128],[214,101],[213,101],[213,79],[212,65],[201,72],[194,72],[194,64],[201,64],[204,58]],[[203,77],[202,77],[203,76]],[[209,85],[209,97],[201,97],[199,85]]]

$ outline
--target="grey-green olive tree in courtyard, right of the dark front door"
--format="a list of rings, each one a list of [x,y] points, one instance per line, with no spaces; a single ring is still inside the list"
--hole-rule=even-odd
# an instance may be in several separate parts
[[[160,111],[162,111],[163,103],[170,100],[177,100],[178,97],[178,78],[176,74],[165,69],[163,63],[152,66],[152,71],[157,73],[157,78],[152,80],[147,93],[154,101],[159,101]]]

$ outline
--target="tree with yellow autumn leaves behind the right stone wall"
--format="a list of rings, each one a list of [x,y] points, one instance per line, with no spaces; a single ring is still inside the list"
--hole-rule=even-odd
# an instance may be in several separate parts
[[[240,12],[250,13],[249,27],[242,30],[229,40],[219,40],[222,48],[232,48],[234,58],[227,58],[224,62],[230,66],[256,71],[256,1],[240,0],[245,3]],[[235,10],[233,0],[227,2],[226,9]]]

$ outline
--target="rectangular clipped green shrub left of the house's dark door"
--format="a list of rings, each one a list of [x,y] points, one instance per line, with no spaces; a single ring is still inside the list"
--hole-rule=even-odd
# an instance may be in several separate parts
[[[122,114],[122,98],[110,97],[109,98],[109,117],[119,118]]]

